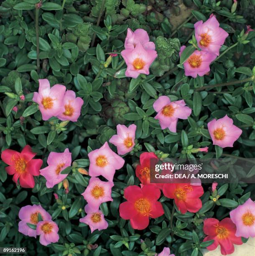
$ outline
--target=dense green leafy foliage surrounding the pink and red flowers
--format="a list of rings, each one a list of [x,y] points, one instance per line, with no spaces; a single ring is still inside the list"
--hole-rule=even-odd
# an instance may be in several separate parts
[[[26,145],[42,159],[50,152],[71,152],[64,182],[23,188],[0,162],[0,247],[27,247],[28,255],[155,255],[164,247],[176,256],[202,255],[204,219],[222,220],[230,210],[254,200],[254,184],[203,184],[202,207],[182,214],[161,192],[164,214],[135,230],[120,218],[123,189],[139,185],[135,169],[140,154],[166,158],[255,158],[255,32],[254,0],[5,0],[0,5],[0,148],[20,152]],[[189,15],[184,15],[189,13]],[[197,47],[194,23],[216,15],[229,35],[210,72],[196,78],[184,74],[184,62]],[[253,13],[253,15],[252,15]],[[184,16],[183,16],[184,15]],[[173,25],[174,24],[174,25]],[[142,28],[155,43],[157,58],[150,74],[127,77],[124,49],[127,28]],[[179,57],[182,45],[184,54]],[[77,122],[43,120],[33,100],[38,79],[63,84],[84,101]],[[40,93],[40,92],[39,92]],[[153,103],[160,96],[184,100],[192,112],[179,120],[176,132],[161,125]],[[228,115],[242,129],[234,147],[213,145],[207,123]],[[91,233],[79,222],[87,204],[81,195],[89,184],[88,154],[116,134],[116,125],[136,125],[135,146],[116,168],[111,197],[100,205],[108,223]],[[117,153],[116,147],[109,143]],[[199,148],[208,147],[208,153]],[[66,152],[66,151],[65,151]],[[63,166],[62,166],[63,167]],[[248,177],[255,175],[253,168]],[[64,184],[63,184],[64,183]],[[143,182],[142,182],[143,183]],[[250,196],[250,195],[253,195]],[[59,241],[43,246],[18,232],[20,208],[41,204],[59,227]],[[87,212],[88,213],[88,212]],[[33,225],[31,226],[32,228]],[[242,238],[242,242],[247,239]]]

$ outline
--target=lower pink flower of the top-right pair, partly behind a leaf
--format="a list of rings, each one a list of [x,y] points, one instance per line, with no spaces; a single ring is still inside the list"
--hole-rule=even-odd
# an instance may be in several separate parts
[[[181,46],[179,55],[184,51],[186,46]],[[210,64],[216,58],[215,54],[195,50],[191,56],[184,62],[184,71],[186,76],[196,78],[204,76],[210,71]]]

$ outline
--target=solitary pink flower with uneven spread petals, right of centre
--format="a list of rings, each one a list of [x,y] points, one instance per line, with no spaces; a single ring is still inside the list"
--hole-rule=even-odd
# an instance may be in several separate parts
[[[173,101],[167,96],[160,96],[153,103],[153,108],[158,114],[155,119],[159,120],[161,129],[168,128],[171,132],[176,133],[178,118],[187,119],[191,114],[191,109],[185,106],[184,100]]]

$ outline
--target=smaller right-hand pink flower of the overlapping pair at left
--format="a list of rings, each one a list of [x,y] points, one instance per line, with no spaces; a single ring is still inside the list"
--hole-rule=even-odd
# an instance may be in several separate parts
[[[75,92],[68,90],[66,91],[63,99],[63,109],[57,115],[61,121],[70,120],[77,122],[79,116],[81,115],[81,108],[83,105],[83,100],[80,97],[75,96]]]

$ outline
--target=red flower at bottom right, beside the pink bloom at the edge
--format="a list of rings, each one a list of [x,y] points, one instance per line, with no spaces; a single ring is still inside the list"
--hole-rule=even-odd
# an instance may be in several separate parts
[[[204,241],[214,240],[207,247],[209,251],[215,250],[220,245],[222,255],[231,254],[235,251],[234,244],[242,244],[241,237],[235,236],[236,226],[230,218],[219,221],[214,218],[204,220],[204,233],[207,235]]]

